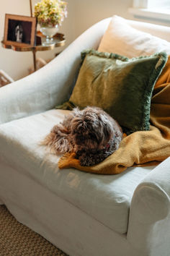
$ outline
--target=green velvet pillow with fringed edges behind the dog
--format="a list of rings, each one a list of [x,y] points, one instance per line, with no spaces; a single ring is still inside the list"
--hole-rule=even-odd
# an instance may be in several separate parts
[[[151,95],[167,61],[166,53],[128,59],[87,50],[71,98],[59,108],[98,106],[128,133],[150,127]]]

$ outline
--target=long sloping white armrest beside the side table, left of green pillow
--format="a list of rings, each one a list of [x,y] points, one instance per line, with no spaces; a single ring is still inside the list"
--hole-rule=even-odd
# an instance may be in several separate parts
[[[110,18],[86,30],[53,61],[0,90],[0,124],[47,111],[67,101],[86,48],[97,48]]]

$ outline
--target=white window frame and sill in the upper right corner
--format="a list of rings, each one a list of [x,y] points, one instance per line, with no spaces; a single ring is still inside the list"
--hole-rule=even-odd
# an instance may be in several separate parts
[[[133,0],[133,7],[129,8],[128,11],[138,17],[147,17],[150,19],[162,20],[164,22],[170,22],[170,1],[169,8],[152,7],[150,0]],[[164,0],[165,1],[165,0]],[[166,2],[166,1],[165,1]]]

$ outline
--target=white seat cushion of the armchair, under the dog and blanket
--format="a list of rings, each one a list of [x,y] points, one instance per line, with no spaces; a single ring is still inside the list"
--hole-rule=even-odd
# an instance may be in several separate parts
[[[61,155],[49,153],[40,146],[40,142],[53,125],[62,121],[68,113],[50,110],[1,124],[1,161],[22,175],[31,177],[109,229],[125,234],[133,192],[153,166],[128,168],[117,175],[89,174],[73,168],[60,170],[58,159]]]

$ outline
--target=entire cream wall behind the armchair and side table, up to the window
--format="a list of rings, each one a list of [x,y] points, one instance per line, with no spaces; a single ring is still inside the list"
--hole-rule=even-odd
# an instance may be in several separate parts
[[[32,0],[32,6],[39,0]],[[78,35],[94,23],[113,14],[122,17],[138,20],[128,12],[129,7],[133,7],[133,0],[67,0],[68,17],[63,22],[59,32],[66,35],[66,46],[68,46]],[[0,38],[4,34],[4,14],[30,15],[29,0],[0,0]],[[156,22],[154,20],[143,20],[146,22]],[[166,25],[164,23],[164,25]],[[53,51],[41,51],[37,57],[43,59],[53,58],[55,53],[63,48],[55,48]],[[0,69],[4,69],[14,80],[28,74],[28,68],[32,66],[31,52],[16,52],[4,49],[0,46]]]

